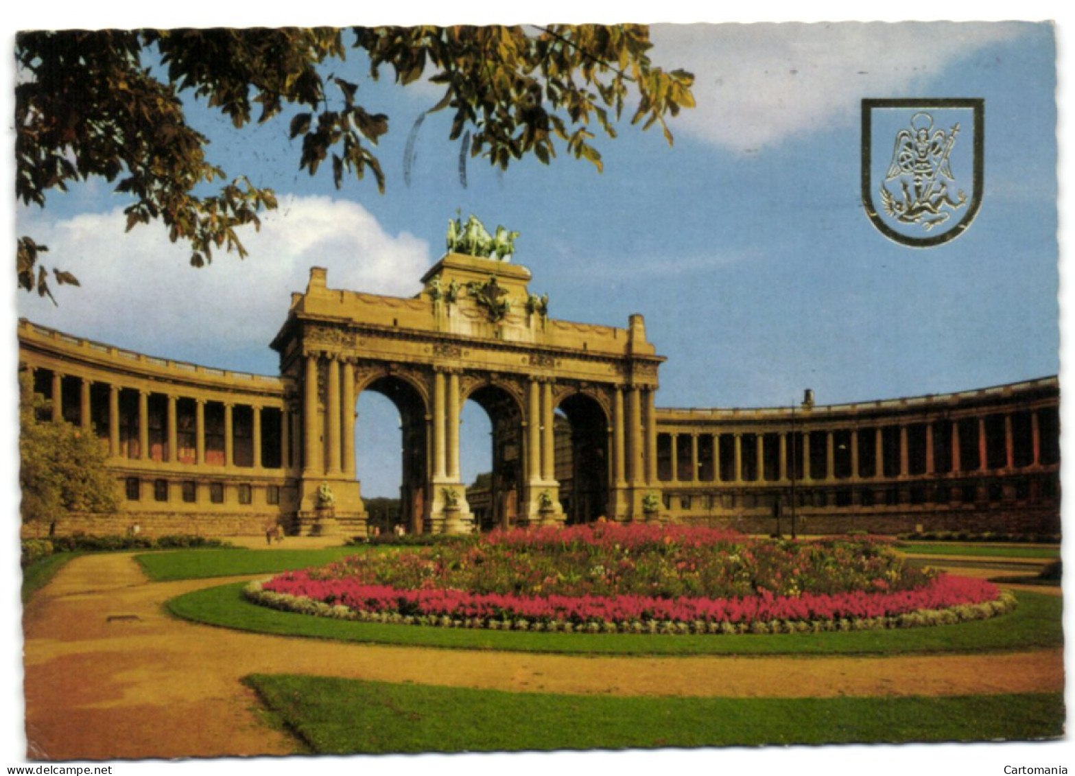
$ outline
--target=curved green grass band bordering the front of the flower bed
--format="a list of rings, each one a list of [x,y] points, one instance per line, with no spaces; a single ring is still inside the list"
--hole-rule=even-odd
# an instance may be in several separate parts
[[[528,633],[349,622],[277,612],[249,603],[243,583],[181,595],[169,610],[205,624],[287,636],[369,644],[501,649],[582,655],[906,655],[983,652],[1055,647],[1063,644],[1062,601],[1019,592],[1019,606],[989,620],[936,628],[780,635],[632,635]]]

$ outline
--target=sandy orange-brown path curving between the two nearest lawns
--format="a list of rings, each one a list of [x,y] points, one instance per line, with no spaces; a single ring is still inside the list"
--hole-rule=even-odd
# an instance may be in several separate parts
[[[243,577],[234,577],[241,579]],[[740,698],[1063,690],[1063,650],[905,658],[586,658],[384,647],[174,619],[164,601],[229,579],[149,583],[131,555],[68,563],[24,616],[28,757],[286,755],[241,678],[302,673],[528,692]]]

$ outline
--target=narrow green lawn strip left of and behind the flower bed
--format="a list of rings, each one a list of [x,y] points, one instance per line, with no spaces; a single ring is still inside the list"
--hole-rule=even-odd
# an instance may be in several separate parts
[[[135,556],[154,581],[204,579],[241,574],[278,574],[285,571],[325,565],[340,558],[368,552],[368,547],[325,549],[214,549],[147,552]]]

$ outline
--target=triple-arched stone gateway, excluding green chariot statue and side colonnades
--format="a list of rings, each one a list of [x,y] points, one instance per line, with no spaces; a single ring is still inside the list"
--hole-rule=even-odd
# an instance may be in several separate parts
[[[641,519],[657,477],[654,397],[664,360],[643,317],[630,316],[626,329],[557,320],[548,298],[531,293],[530,272],[498,258],[449,252],[421,282],[411,299],[375,296],[331,288],[314,268],[306,290],[292,294],[272,347],[301,440],[298,530],[321,530],[326,492],[342,527],[364,523],[355,406],[366,390],[399,411],[412,532],[473,529],[459,468],[468,400],[492,425],[493,523]],[[564,417],[570,435],[555,433]],[[564,458],[573,514],[557,478]]]

